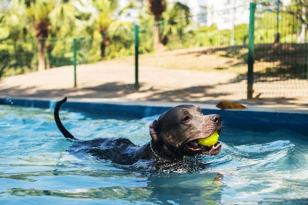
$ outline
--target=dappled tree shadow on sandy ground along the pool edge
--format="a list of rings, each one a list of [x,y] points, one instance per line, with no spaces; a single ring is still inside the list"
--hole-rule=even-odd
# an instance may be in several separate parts
[[[0,97],[38,97],[38,98],[59,98],[69,96],[70,98],[109,98],[127,101],[168,101],[168,102],[191,102],[191,103],[218,103],[222,100],[229,100],[228,92],[209,93],[213,86],[197,86],[184,89],[164,91],[158,88],[134,90],[134,85],[123,83],[106,83],[89,88],[68,88],[68,89],[38,89],[32,88],[5,88],[0,90]],[[297,105],[304,106],[304,103],[295,103],[295,98],[267,98],[267,99],[239,99],[237,102],[251,105]],[[232,101],[232,100],[231,100]]]

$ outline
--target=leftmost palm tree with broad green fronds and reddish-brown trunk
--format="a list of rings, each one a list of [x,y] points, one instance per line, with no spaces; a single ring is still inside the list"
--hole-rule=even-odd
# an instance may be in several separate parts
[[[87,21],[90,20],[92,14],[77,8],[78,6],[80,9],[85,7],[81,2],[27,0],[27,16],[34,22],[35,37],[38,39],[38,71],[45,70],[45,42],[49,36],[66,37],[86,33]],[[49,68],[49,64],[48,57],[46,67]]]

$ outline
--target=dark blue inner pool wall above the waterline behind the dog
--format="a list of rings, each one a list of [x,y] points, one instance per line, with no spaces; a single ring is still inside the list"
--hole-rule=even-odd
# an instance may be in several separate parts
[[[0,104],[24,106],[33,108],[50,108],[56,106],[57,101],[38,99],[0,98]],[[124,105],[104,102],[67,101],[62,109],[86,112],[95,116],[108,118],[136,119],[160,115],[171,107]],[[218,114],[222,117],[223,126],[256,132],[271,132],[274,130],[289,130],[308,136],[308,114],[288,112],[264,112],[249,110],[218,110],[202,109],[204,114]]]

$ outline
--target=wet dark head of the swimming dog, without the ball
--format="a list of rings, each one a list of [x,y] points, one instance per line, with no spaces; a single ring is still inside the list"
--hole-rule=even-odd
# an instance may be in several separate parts
[[[199,139],[221,132],[219,115],[203,115],[199,107],[180,105],[167,110],[150,125],[153,147],[160,157],[174,160],[196,154],[216,155],[221,144],[198,144]]]

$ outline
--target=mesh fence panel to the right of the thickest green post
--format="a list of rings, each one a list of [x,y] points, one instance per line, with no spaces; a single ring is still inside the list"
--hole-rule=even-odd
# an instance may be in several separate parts
[[[299,8],[307,9],[305,6],[273,4],[265,10],[260,4],[250,4],[255,20],[254,30],[250,30],[254,34],[254,64],[249,80],[262,97],[308,97],[307,29],[303,29],[307,23],[292,14]]]

